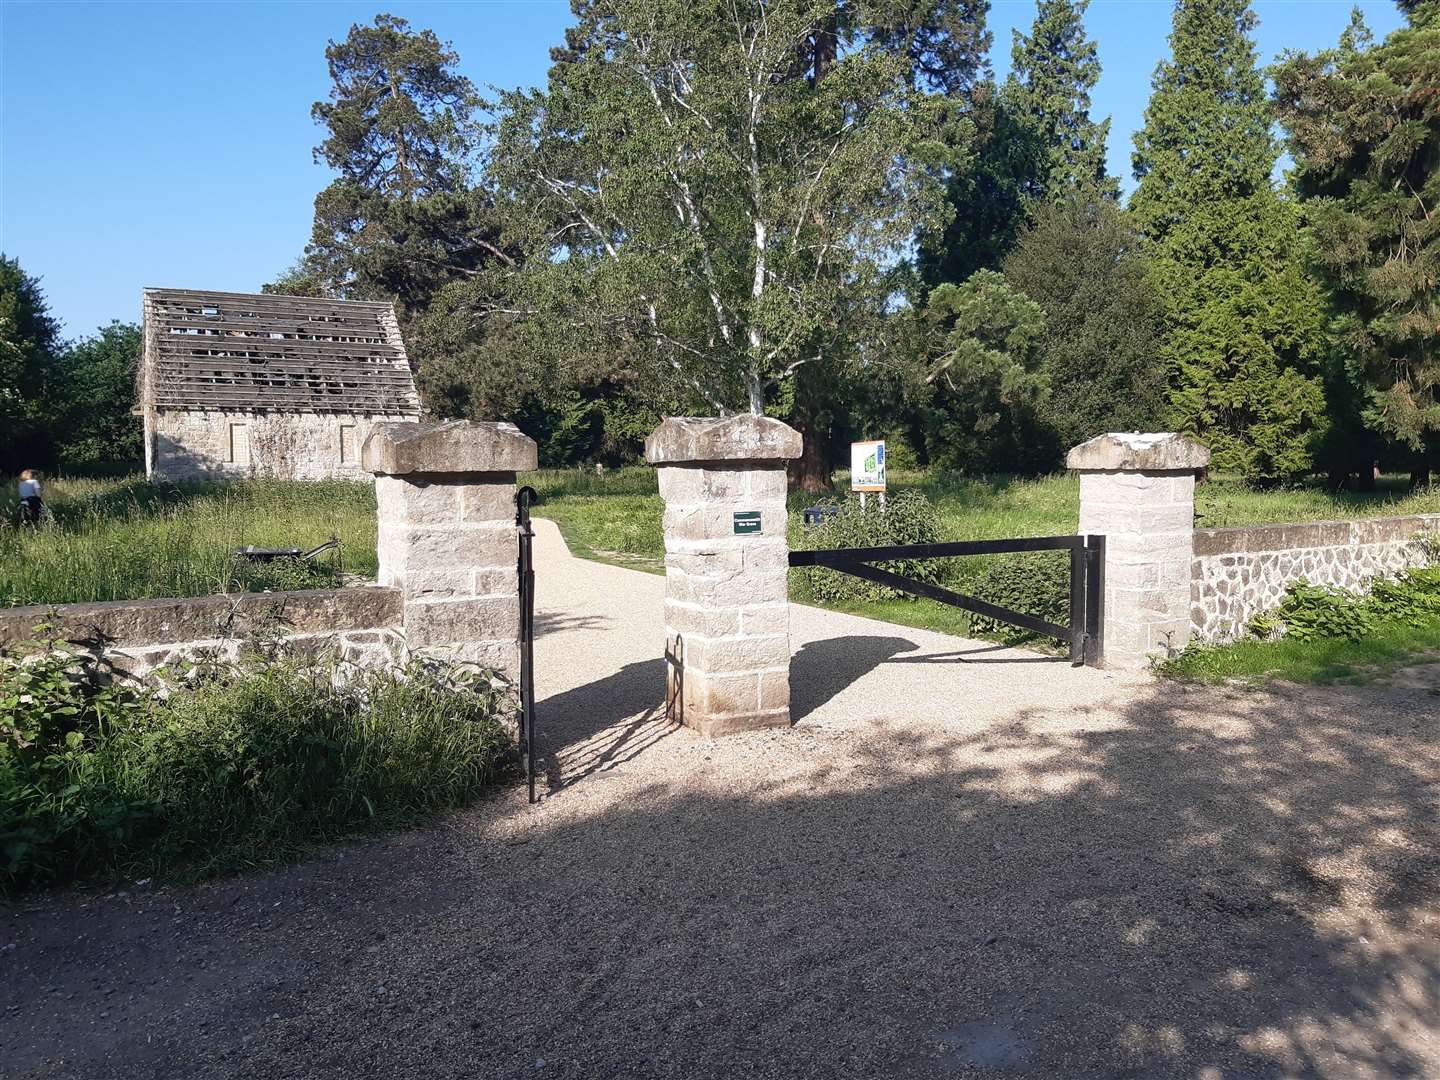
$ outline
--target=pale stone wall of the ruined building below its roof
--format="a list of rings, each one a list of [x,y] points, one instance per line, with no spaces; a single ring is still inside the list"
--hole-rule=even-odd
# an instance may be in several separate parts
[[[151,480],[369,480],[360,448],[376,423],[413,416],[156,409],[145,418]],[[232,448],[232,425],[243,444]],[[344,432],[344,459],[341,436]],[[242,451],[242,452],[236,452]]]

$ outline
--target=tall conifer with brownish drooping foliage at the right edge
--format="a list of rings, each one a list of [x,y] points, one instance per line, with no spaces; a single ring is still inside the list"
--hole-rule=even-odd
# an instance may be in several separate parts
[[[1380,46],[1356,12],[1336,49],[1284,56],[1276,94],[1361,416],[1423,480],[1440,464],[1440,1],[1401,7]]]

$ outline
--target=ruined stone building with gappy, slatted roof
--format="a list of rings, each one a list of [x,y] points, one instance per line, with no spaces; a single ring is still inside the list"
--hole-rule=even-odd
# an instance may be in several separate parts
[[[367,477],[370,426],[419,419],[390,304],[150,288],[144,321],[153,480]]]

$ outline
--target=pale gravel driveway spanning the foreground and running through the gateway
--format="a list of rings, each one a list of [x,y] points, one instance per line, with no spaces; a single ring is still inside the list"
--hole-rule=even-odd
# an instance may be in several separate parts
[[[655,713],[540,523],[546,801],[0,909],[17,1077],[1440,1076],[1440,668],[1217,691],[795,608],[788,732]]]

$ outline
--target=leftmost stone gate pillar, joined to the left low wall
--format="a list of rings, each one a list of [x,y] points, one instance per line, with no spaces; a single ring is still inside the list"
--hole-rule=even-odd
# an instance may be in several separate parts
[[[412,655],[520,672],[516,472],[534,439],[511,423],[377,423],[360,462],[374,474],[380,585],[405,598]]]

